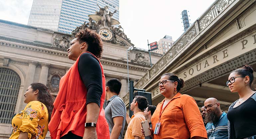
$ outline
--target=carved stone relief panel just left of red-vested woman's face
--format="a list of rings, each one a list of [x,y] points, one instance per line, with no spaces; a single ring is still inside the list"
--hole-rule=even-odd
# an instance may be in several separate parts
[[[69,48],[69,43],[70,43],[70,41],[67,38],[67,36],[65,36],[65,35],[61,36],[61,35],[57,34],[53,40],[53,47],[67,49],[67,48]]]

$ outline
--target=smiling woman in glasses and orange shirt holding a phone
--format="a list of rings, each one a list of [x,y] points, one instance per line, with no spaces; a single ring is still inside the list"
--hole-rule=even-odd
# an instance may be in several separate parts
[[[158,83],[165,99],[157,105],[150,128],[154,139],[207,139],[203,120],[195,100],[179,91],[184,80],[165,73]],[[142,133],[144,130],[142,128]]]

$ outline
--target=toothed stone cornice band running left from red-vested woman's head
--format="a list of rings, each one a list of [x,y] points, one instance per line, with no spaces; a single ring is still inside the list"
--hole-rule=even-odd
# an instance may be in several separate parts
[[[46,53],[46,54],[50,54],[50,55],[57,55],[57,56],[67,57],[66,52],[64,53],[64,52],[46,50],[46,49],[40,48],[40,47],[35,48],[35,47],[17,45],[17,44],[8,43],[8,42],[2,42],[1,40],[0,40],[0,45],[7,46],[7,47],[18,48],[18,49],[23,49],[23,50],[36,51],[36,52],[39,52],[39,53]],[[49,47],[48,47],[48,49],[49,49]],[[52,49],[52,47],[51,47],[51,49]]]

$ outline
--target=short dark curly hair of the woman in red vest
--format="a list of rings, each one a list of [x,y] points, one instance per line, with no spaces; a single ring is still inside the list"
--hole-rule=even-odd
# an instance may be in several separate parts
[[[86,28],[85,30],[78,32],[75,37],[80,43],[86,42],[88,45],[87,51],[92,53],[98,59],[101,59],[103,52],[103,43],[99,34]]]

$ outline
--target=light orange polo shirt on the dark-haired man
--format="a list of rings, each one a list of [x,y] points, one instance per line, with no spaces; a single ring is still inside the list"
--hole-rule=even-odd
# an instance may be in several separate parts
[[[145,137],[141,133],[141,127],[142,127],[141,122],[145,120],[146,118],[145,118],[144,112],[138,112],[134,114],[127,127],[124,139],[134,139],[134,136],[138,136],[138,137],[141,137],[141,139],[144,139]]]

